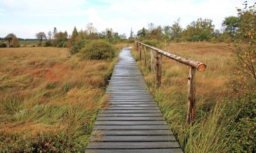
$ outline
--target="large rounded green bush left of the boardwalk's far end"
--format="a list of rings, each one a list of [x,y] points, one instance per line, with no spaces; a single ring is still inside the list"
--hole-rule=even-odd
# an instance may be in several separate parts
[[[81,53],[86,59],[109,59],[115,56],[115,48],[106,41],[91,41],[81,50]]]

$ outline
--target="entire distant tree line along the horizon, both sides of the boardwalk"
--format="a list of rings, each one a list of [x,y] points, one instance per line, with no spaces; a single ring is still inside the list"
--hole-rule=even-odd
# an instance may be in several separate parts
[[[191,22],[183,29],[180,25],[180,18],[173,22],[171,25],[164,27],[155,26],[154,23],[149,23],[147,28],[143,27],[137,33],[130,29],[128,39],[141,39],[141,40],[169,40],[169,39],[185,39],[190,41],[204,40],[204,41],[225,41],[231,42],[238,36],[240,16],[228,16],[223,20],[222,29],[215,29],[212,20],[208,18],[198,18]],[[74,38],[77,37],[77,38]],[[72,35],[68,35],[67,31],[57,31],[55,27],[53,31],[39,32],[35,34],[35,39],[21,39],[16,37],[14,33],[8,34],[6,37],[0,37],[0,40],[7,40],[8,44],[1,42],[0,47],[20,46],[19,41],[39,41],[37,46],[55,46],[55,47],[70,47],[74,44],[75,39],[105,39],[111,44],[127,39],[126,34],[119,34],[111,28],[98,32],[94,24],[89,22],[85,31],[77,31],[76,27]],[[13,41],[13,42],[12,42]]]

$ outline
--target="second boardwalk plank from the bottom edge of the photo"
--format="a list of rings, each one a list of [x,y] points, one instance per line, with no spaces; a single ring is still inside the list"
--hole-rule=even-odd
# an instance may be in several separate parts
[[[180,148],[177,141],[160,142],[91,142],[89,149],[158,149],[158,148]]]

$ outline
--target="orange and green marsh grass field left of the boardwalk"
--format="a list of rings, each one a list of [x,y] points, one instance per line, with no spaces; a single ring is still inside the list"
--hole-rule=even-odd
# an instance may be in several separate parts
[[[66,48],[0,49],[0,152],[84,152],[117,61]]]

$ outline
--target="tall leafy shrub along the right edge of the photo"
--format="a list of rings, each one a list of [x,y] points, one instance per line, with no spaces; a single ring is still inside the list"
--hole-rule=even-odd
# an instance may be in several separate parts
[[[256,4],[256,3],[255,3]],[[228,139],[230,152],[256,152],[256,7],[238,9],[238,33],[233,55],[234,93],[237,95],[235,112],[239,112]]]

